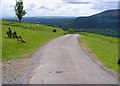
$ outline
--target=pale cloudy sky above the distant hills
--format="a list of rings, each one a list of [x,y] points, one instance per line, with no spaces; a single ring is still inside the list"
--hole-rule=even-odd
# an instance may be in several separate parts
[[[26,17],[36,16],[90,16],[118,9],[119,0],[23,0]],[[15,17],[16,0],[0,0],[0,15]]]

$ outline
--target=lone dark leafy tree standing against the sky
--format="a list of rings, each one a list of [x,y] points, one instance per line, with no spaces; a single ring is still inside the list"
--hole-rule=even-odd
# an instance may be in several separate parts
[[[21,22],[22,17],[26,14],[26,11],[23,9],[23,1],[22,0],[16,0],[15,8],[15,14],[17,18],[19,19],[19,23]]]

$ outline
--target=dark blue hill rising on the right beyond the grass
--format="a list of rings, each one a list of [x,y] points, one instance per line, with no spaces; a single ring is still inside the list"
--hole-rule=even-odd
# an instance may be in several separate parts
[[[78,17],[71,23],[71,26],[75,31],[118,36],[119,11],[108,10],[89,17]]]

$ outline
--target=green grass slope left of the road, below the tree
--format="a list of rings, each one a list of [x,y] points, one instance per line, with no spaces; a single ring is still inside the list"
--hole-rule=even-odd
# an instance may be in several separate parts
[[[6,31],[11,26],[12,31],[16,31],[18,36],[26,41],[22,44],[14,38],[6,38]],[[53,29],[57,29],[56,33],[53,33]],[[48,41],[63,35],[63,31],[59,28],[53,28],[45,25],[34,25],[3,21],[2,23],[2,61],[8,61],[11,59],[28,58],[41,46]]]

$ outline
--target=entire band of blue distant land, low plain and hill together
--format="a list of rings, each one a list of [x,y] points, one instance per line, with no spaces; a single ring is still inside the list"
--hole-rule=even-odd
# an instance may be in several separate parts
[[[107,10],[89,17],[25,17],[22,22],[45,24],[60,27],[64,30],[73,28],[74,31],[87,31],[108,36],[119,36],[118,22],[120,9]],[[18,21],[15,18],[5,19]]]

